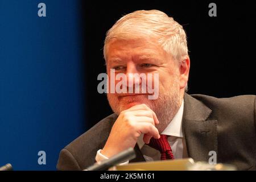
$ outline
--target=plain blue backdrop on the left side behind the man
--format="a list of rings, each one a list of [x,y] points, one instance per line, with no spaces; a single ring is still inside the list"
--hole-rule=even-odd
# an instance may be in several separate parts
[[[61,148],[84,133],[81,10],[74,0],[0,0],[0,166],[55,170]]]

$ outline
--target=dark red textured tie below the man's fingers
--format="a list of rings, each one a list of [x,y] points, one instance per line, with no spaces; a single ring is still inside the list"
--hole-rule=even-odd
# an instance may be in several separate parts
[[[172,148],[167,140],[167,135],[160,135],[159,139],[154,139],[153,137],[148,143],[148,146],[159,150],[161,153],[161,160],[174,159],[174,154],[172,154]]]

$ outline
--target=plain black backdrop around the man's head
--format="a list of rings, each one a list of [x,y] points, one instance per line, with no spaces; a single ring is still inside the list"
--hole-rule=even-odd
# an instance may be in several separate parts
[[[217,17],[208,15],[211,2],[217,5]],[[97,92],[97,76],[106,72],[106,31],[135,10],[161,10],[183,25],[191,59],[189,94],[256,94],[255,1],[83,1],[81,5],[88,129],[112,113],[106,95]]]

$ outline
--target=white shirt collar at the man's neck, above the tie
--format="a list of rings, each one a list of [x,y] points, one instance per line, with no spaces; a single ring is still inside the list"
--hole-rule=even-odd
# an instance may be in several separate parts
[[[163,132],[161,134],[183,138],[182,125],[181,125],[183,110],[184,110],[184,100],[182,101],[180,109],[177,111],[177,113],[174,116],[174,118],[172,119],[172,121],[169,123],[169,125],[166,127],[166,129],[163,130]],[[137,144],[140,149],[144,145],[143,136],[144,135],[141,135],[137,141]]]

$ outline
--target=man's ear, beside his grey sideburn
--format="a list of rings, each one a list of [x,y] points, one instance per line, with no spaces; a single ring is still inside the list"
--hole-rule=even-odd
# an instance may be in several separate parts
[[[179,64],[180,71],[180,89],[184,89],[188,82],[190,68],[190,59],[189,56],[184,56]]]

